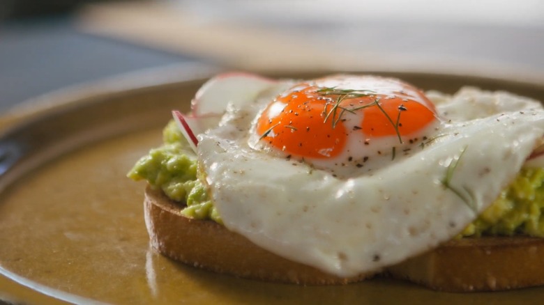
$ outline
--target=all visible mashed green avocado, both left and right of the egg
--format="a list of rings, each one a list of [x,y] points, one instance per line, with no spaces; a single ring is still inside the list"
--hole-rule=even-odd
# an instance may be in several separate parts
[[[174,120],[163,130],[163,146],[153,148],[137,161],[128,177],[147,180],[174,201],[186,203],[182,213],[195,219],[222,224],[210,200],[204,174],[197,169],[197,156]],[[511,185],[460,237],[482,235],[530,235],[544,237],[544,169],[522,169]]]

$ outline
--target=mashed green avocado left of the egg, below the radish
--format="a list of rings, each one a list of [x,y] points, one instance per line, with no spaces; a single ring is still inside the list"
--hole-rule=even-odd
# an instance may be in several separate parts
[[[163,146],[153,148],[139,159],[128,178],[147,180],[155,189],[162,189],[174,201],[186,203],[181,211],[195,219],[212,219],[222,223],[211,203],[206,186],[197,171],[197,156],[172,120],[163,130]],[[200,178],[200,179],[199,179]]]

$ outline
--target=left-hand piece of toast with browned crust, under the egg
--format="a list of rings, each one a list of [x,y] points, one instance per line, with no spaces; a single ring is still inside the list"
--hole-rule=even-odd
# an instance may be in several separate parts
[[[182,208],[162,191],[146,188],[144,216],[151,245],[174,260],[245,279],[302,285],[346,284],[372,276],[365,273],[340,278],[295,263],[258,247],[215,221],[188,218],[181,214]]]

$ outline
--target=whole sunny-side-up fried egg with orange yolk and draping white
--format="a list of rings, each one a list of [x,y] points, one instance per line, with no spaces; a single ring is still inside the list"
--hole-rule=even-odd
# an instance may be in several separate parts
[[[541,104],[507,93],[358,75],[280,84],[197,136],[199,166],[229,230],[338,276],[450,240],[544,135]]]

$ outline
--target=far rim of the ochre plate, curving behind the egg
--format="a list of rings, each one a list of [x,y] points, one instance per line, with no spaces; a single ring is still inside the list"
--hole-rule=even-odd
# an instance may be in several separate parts
[[[119,75],[112,75],[93,81],[85,81],[72,86],[65,86],[47,93],[31,97],[8,108],[0,114],[0,128],[13,125],[22,118],[36,116],[43,112],[54,111],[66,104],[72,104],[81,100],[97,98],[106,95],[120,94],[128,91],[144,90],[159,86],[180,84],[185,81],[205,80],[221,72],[243,71],[270,77],[285,78],[282,75],[325,75],[331,73],[356,73],[356,74],[400,74],[400,75],[425,75],[428,77],[467,77],[478,81],[499,81],[521,86],[534,86],[544,88],[544,73],[529,72],[527,70],[444,70],[432,68],[412,68],[407,66],[387,67],[372,66],[368,69],[345,68],[338,69],[301,69],[301,70],[240,70],[236,68],[220,67],[206,63],[176,63],[155,68],[135,70]],[[467,86],[470,86],[467,83]],[[544,102],[544,100],[542,101]]]

